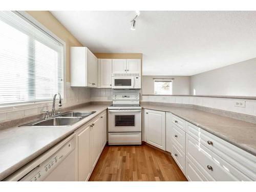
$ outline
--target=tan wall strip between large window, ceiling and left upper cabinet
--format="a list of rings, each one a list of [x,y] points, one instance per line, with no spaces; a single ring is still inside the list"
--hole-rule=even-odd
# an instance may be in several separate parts
[[[66,42],[66,81],[70,82],[70,47],[82,44],[49,11],[26,12]]]

